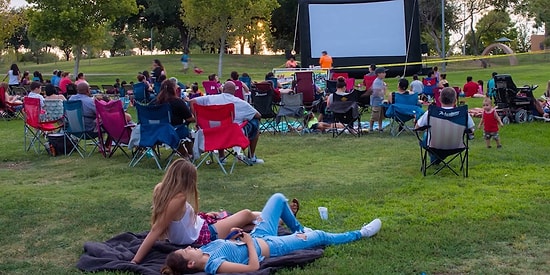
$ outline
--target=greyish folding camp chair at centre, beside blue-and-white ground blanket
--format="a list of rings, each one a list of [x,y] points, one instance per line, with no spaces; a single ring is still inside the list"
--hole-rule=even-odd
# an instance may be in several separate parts
[[[275,119],[277,131],[281,133],[290,131],[301,133],[299,129],[304,129],[305,108],[302,96],[302,93],[281,95],[281,105]],[[281,124],[281,122],[284,124]]]

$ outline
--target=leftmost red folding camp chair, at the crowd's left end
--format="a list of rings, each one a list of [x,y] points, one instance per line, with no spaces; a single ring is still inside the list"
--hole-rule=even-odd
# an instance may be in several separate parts
[[[23,99],[23,114],[25,119],[23,146],[25,151],[33,148],[36,153],[40,152],[41,149],[36,148],[36,146],[39,144],[42,149],[45,148],[42,136],[48,132],[56,132],[63,127],[61,119],[40,121],[41,112],[40,99],[28,96]],[[30,139],[28,146],[27,139]]]

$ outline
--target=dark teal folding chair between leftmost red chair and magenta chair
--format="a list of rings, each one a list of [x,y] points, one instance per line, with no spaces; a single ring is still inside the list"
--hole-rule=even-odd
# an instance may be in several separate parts
[[[73,149],[69,151],[68,155],[71,155],[76,150],[82,158],[89,157],[98,147],[98,133],[97,131],[86,130],[84,115],[82,113],[82,101],[63,101],[63,109],[65,119],[63,132],[67,137],[64,144],[65,152],[68,151],[66,142],[69,141]],[[83,145],[80,145],[81,141],[83,141]],[[91,150],[87,149],[88,141],[92,145]]]

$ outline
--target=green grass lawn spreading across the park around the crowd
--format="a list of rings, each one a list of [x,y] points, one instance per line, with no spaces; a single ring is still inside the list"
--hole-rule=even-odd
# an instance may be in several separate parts
[[[128,81],[149,69],[153,58],[85,60],[81,71],[91,84],[111,84],[116,77]],[[179,56],[158,58],[170,76],[179,70]],[[191,58],[204,74],[217,70],[217,56]],[[283,63],[280,56],[225,56],[220,79],[233,69],[263,79]],[[72,71],[72,63],[20,68]],[[520,62],[450,67],[447,73],[451,85],[462,86],[467,75],[485,80],[497,70],[512,74],[518,86],[545,87],[549,69],[546,63]],[[194,82],[204,74],[175,76]],[[397,80],[388,83],[395,87]],[[481,99],[467,104],[479,107]],[[329,247],[305,268],[280,274],[548,274],[549,128],[543,122],[507,125],[500,132],[500,150],[485,148],[477,131],[466,179],[448,171],[423,177],[413,136],[262,134],[257,153],[264,165],[239,164],[229,176],[214,165],[199,169],[201,210],[259,210],[272,193],[282,192],[300,200],[298,217],[315,229],[354,230],[381,218],[382,230],[374,238]],[[121,153],[110,159],[99,153],[54,158],[23,150],[21,120],[0,121],[0,132],[0,274],[79,274],[75,264],[84,242],[149,229],[152,189],[163,175],[151,159],[129,168]],[[327,221],[319,218],[318,206],[329,209]]]

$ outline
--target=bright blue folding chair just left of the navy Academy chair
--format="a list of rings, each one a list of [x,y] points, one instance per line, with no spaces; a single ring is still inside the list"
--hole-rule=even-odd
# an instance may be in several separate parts
[[[391,120],[390,134],[394,137],[406,132],[414,134],[416,118],[422,116],[424,110],[418,104],[418,94],[392,93],[393,103],[389,104],[385,116]]]

